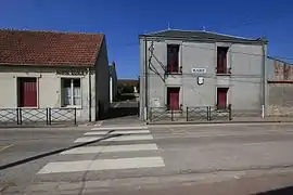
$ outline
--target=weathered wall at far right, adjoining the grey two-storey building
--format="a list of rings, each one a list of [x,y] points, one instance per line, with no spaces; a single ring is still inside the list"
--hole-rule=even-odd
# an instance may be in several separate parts
[[[293,66],[273,58],[267,60],[270,116],[293,116]]]

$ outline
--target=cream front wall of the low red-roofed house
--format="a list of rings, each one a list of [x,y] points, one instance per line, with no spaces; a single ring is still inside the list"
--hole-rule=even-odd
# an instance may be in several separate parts
[[[17,77],[37,77],[38,84],[38,107],[56,107],[62,106],[61,102],[61,79],[62,78],[80,78],[82,105],[77,107],[77,120],[88,120],[89,116],[89,74],[86,68],[84,76],[64,76],[58,75],[56,70],[62,68],[46,67],[24,67],[24,66],[1,66],[0,69],[0,108],[17,107]],[[65,70],[66,68],[64,68]],[[93,76],[94,78],[94,76]],[[95,83],[92,82],[91,94],[94,98]],[[92,109],[94,114],[94,108]]]

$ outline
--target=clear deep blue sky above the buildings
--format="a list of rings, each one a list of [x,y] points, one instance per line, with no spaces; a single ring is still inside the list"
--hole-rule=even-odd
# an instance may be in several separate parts
[[[293,62],[292,9],[290,0],[1,0],[0,28],[103,32],[118,77],[137,78],[138,35],[168,23],[176,29],[265,35],[269,55]]]

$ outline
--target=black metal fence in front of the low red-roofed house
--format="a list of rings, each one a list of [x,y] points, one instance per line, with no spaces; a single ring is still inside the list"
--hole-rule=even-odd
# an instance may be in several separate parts
[[[76,108],[0,108],[0,123],[77,123]]]

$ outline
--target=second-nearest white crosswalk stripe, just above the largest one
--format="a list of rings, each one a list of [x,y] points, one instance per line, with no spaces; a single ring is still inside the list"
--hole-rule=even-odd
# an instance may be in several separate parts
[[[61,154],[92,154],[112,152],[132,152],[132,151],[156,151],[156,144],[132,144],[132,145],[110,145],[110,146],[87,146],[65,151]]]

